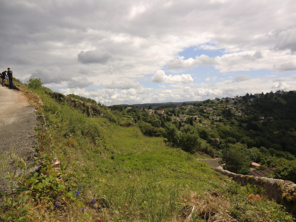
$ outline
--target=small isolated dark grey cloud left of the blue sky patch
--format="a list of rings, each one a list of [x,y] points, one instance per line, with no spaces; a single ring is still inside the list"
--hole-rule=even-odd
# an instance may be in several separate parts
[[[78,61],[84,64],[87,63],[106,63],[111,57],[110,52],[101,52],[99,50],[81,51],[78,55]]]

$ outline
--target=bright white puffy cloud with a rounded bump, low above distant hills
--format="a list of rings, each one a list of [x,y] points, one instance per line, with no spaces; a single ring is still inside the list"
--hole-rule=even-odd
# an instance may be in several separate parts
[[[154,83],[192,83],[193,78],[189,74],[165,75],[163,70],[158,70],[152,77]]]

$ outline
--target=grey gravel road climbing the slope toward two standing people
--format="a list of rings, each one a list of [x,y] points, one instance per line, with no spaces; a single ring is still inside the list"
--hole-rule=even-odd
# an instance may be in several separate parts
[[[27,156],[27,165],[33,163],[36,152],[32,148],[33,142],[37,140],[34,132],[36,124],[35,107],[31,106],[28,99],[20,91],[8,89],[6,86],[0,86],[0,155],[9,148],[14,147],[17,156],[25,158]],[[12,171],[16,168],[10,163]],[[33,172],[39,166],[29,169]],[[20,170],[17,170],[17,175]],[[0,191],[8,190],[7,182],[0,175]]]

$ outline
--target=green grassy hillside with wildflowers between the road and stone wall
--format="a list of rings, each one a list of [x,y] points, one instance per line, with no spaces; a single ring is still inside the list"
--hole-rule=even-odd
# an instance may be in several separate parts
[[[73,105],[46,90],[32,89],[44,103],[37,112],[46,118],[68,192],[79,192],[84,213],[61,196],[42,201],[30,196],[28,219],[104,221],[106,209],[107,221],[292,221],[264,196],[250,201],[250,194],[260,195],[257,189],[216,173],[196,160],[199,154],[144,136],[135,123],[126,124],[127,117],[97,104],[91,104],[97,115],[89,115],[91,105]]]

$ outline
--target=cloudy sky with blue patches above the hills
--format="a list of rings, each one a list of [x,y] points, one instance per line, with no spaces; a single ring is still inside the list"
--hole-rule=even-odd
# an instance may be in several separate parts
[[[2,0],[0,68],[103,104],[296,90],[296,2]]]

